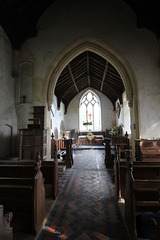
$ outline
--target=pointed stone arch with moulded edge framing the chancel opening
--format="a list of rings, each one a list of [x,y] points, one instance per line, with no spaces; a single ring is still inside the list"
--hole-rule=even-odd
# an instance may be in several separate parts
[[[70,61],[85,51],[91,51],[103,57],[110,62],[120,74],[130,107],[132,126],[131,138],[132,147],[134,148],[134,139],[139,137],[137,81],[127,60],[118,51],[105,42],[92,37],[82,37],[67,46],[64,51],[60,53],[50,67],[46,79],[45,89],[47,90],[48,110],[51,109],[54,89],[61,72]]]

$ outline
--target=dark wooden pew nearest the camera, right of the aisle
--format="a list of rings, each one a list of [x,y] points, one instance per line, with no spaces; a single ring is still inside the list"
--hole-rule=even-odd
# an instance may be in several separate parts
[[[160,179],[137,179],[134,172],[133,163],[129,162],[126,174],[125,221],[131,238],[137,239],[137,216],[152,216],[160,209]]]

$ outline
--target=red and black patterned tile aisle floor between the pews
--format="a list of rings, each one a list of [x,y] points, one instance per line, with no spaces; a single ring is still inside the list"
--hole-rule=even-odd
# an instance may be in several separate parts
[[[59,176],[60,193],[38,240],[129,240],[104,150],[81,150]]]

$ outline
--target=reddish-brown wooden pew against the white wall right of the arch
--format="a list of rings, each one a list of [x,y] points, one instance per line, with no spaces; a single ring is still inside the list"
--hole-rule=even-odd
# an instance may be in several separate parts
[[[135,139],[136,161],[160,162],[160,139]]]

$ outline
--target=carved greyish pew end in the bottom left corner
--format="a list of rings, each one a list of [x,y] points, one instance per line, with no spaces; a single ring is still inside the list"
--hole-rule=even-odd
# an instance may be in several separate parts
[[[4,207],[0,205],[0,239],[2,240],[13,239],[13,229],[10,226],[12,217],[12,212],[8,212],[4,215]]]

